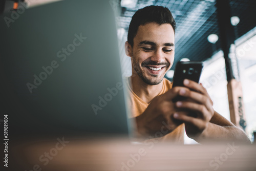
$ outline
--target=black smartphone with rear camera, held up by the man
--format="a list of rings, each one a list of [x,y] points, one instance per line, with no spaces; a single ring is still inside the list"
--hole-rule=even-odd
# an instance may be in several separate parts
[[[173,87],[184,87],[184,79],[190,79],[199,82],[203,69],[203,62],[198,61],[180,61],[177,63],[173,77]]]

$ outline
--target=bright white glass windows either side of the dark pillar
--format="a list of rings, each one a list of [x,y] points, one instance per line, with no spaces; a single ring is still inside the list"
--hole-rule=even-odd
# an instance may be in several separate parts
[[[256,131],[256,28],[236,40],[235,43],[247,122],[246,133],[252,140],[252,132]],[[233,69],[236,70],[236,67],[234,66]],[[204,61],[200,82],[214,101],[215,111],[230,120],[225,61],[222,51]],[[195,143],[188,137],[185,140],[186,143]]]

